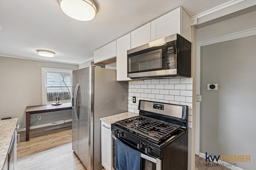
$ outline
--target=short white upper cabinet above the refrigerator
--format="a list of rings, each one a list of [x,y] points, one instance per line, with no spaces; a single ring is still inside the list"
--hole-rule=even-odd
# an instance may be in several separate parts
[[[116,59],[116,40],[94,51],[94,63],[108,64]]]

